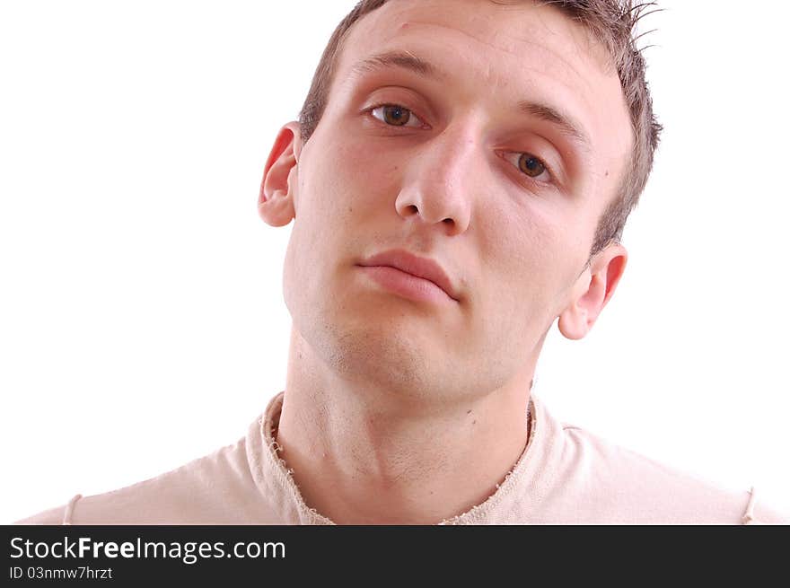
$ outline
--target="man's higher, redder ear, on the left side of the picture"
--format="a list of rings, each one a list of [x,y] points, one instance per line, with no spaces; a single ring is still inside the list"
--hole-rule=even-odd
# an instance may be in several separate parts
[[[258,213],[266,224],[285,226],[296,217],[294,187],[302,154],[298,122],[289,122],[277,133],[260,182]]]

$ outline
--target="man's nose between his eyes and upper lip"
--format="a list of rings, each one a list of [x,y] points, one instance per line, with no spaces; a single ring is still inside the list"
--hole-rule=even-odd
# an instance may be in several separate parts
[[[395,208],[405,219],[443,224],[447,234],[464,233],[470,224],[475,175],[479,175],[476,141],[469,129],[447,127],[407,165]]]

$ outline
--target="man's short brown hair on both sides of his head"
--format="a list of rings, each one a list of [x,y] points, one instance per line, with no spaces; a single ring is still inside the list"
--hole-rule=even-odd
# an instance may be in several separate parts
[[[332,33],[319,66],[312,78],[310,92],[299,114],[303,141],[308,141],[318,126],[329,99],[339,49],[348,31],[365,14],[371,13],[388,0],[361,0]],[[504,4],[501,0],[491,0]],[[610,65],[617,68],[620,85],[631,115],[634,147],[618,193],[607,206],[592,241],[591,257],[610,242],[619,241],[631,211],[645,189],[653,169],[653,156],[658,146],[661,125],[653,114],[653,101],[645,80],[645,58],[636,48],[636,23],[645,16],[645,8],[654,2],[634,0],[531,0],[548,4],[578,22],[600,42],[609,53]],[[652,11],[655,12],[655,11]]]

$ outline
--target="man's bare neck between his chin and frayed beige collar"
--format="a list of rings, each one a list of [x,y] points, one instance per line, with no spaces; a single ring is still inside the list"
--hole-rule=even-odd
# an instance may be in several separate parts
[[[294,334],[280,457],[304,502],[333,522],[442,522],[494,494],[518,461],[532,373],[437,402],[430,391],[342,379]]]

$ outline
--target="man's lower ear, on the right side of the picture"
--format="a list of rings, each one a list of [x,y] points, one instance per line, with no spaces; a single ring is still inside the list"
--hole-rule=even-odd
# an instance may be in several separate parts
[[[571,303],[559,315],[559,330],[566,338],[580,339],[590,332],[614,294],[627,262],[628,251],[619,243],[610,243],[592,256],[590,264],[576,280]]]

